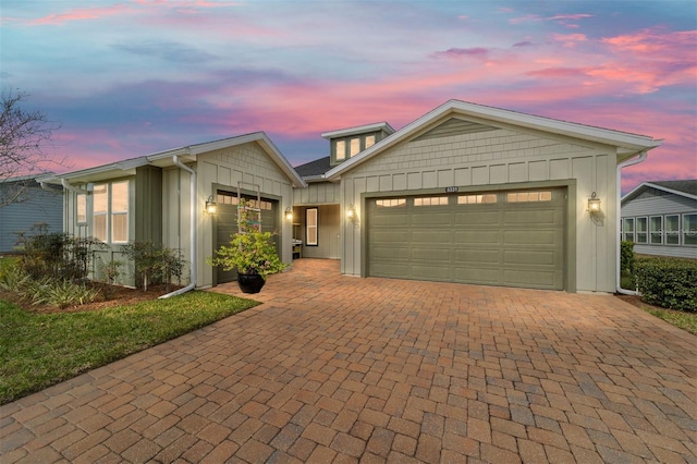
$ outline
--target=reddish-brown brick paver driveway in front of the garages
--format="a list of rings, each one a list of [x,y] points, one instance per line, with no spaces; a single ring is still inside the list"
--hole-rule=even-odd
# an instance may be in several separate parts
[[[613,296],[302,259],[259,300],[2,406],[0,461],[697,462],[697,339]]]

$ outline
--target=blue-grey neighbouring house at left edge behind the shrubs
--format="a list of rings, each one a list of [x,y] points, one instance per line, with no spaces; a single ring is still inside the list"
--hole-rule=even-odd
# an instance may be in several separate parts
[[[15,253],[19,232],[45,224],[48,232],[63,230],[63,190],[41,185],[34,176],[0,181],[0,255]]]

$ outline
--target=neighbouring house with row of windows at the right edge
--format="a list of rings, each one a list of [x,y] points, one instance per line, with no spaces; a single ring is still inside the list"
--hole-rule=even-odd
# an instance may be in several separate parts
[[[643,182],[626,194],[622,240],[638,254],[697,258],[697,180]]]

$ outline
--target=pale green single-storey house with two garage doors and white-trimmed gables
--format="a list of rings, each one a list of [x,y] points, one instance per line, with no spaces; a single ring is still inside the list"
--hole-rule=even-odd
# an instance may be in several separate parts
[[[44,181],[66,190],[68,232],[111,245],[100,259],[159,239],[194,264],[192,286],[235,278],[205,259],[234,230],[240,192],[260,198],[285,262],[331,258],[346,276],[614,292],[621,169],[660,145],[458,100],[399,131],[379,122],[321,136],[329,156],[297,169],[255,133]]]

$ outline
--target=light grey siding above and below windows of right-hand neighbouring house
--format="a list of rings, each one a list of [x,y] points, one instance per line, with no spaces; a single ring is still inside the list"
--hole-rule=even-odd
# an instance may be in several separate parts
[[[638,198],[626,200],[622,206],[622,218],[681,215],[682,221],[682,215],[690,212],[697,213],[697,200],[674,194],[650,198],[641,198],[639,196]],[[697,259],[697,247],[695,246],[635,244],[634,253]]]

